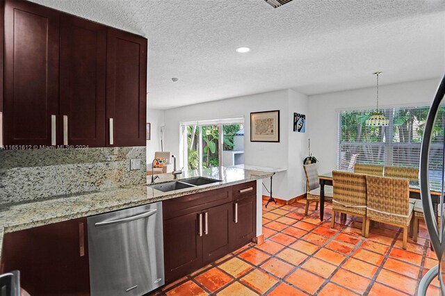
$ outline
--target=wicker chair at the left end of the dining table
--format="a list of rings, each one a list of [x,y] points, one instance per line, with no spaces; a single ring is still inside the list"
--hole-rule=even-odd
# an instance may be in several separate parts
[[[320,202],[320,183],[318,182],[318,172],[315,163],[311,165],[303,165],[306,175],[306,209],[305,215],[309,210],[309,203],[316,202],[315,211],[318,210],[318,202]],[[325,197],[332,197],[332,186],[325,186]]]

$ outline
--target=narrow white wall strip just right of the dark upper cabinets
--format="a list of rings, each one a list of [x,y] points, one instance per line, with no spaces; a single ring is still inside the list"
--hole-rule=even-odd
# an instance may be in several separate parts
[[[152,125],[152,135],[147,140],[147,168],[151,167],[150,161],[154,159],[154,152],[161,151],[161,126],[164,124],[164,110],[147,108],[147,123]],[[164,151],[165,145],[164,145]]]

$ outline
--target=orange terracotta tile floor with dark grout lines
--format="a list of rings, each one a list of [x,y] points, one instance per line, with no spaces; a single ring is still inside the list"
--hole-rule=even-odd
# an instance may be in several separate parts
[[[362,220],[348,216],[330,228],[305,200],[263,208],[261,245],[250,243],[201,270],[165,286],[154,295],[414,295],[419,281],[437,264],[421,224],[417,242],[402,249],[402,233],[380,224],[369,238]],[[427,295],[439,295],[438,281]]]

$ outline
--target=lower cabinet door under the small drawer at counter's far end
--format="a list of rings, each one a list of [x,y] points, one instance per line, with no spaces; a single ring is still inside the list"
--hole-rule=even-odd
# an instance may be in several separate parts
[[[238,249],[254,238],[256,227],[257,203],[256,196],[245,197],[232,204],[234,219],[230,235],[231,249]]]

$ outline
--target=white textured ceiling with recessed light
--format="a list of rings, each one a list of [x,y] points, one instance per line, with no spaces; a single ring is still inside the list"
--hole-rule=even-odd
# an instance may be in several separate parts
[[[445,0],[33,1],[147,37],[152,108],[369,87],[377,70],[382,85],[445,72]]]

